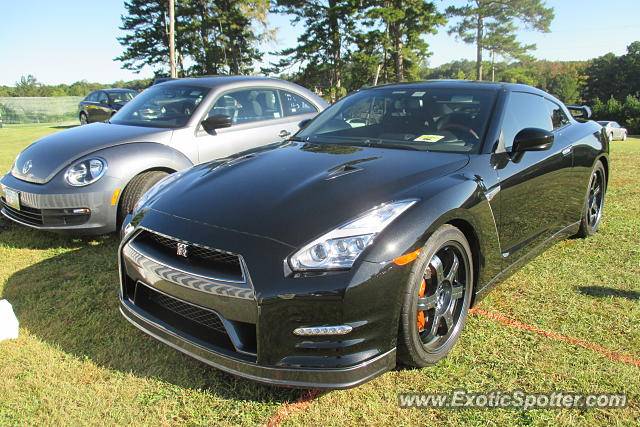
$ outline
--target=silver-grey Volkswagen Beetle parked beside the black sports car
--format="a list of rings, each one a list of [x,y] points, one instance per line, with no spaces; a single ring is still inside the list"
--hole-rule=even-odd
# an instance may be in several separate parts
[[[2,214],[43,230],[113,232],[160,179],[286,139],[326,106],[301,86],[265,77],[154,85],[107,123],[58,132],[22,151],[0,181]]]

